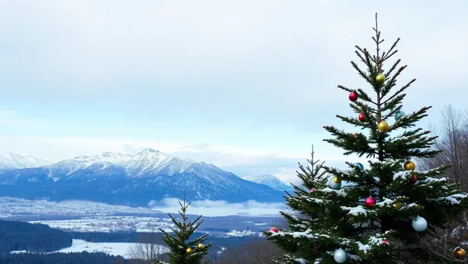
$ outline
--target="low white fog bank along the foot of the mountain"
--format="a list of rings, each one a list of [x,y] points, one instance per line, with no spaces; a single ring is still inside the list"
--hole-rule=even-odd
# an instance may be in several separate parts
[[[179,199],[164,199],[159,203],[151,202],[149,206],[154,210],[162,212],[178,212],[180,210]],[[189,206],[189,214],[202,214],[205,217],[217,217],[236,214],[279,214],[279,210],[284,210],[284,203],[258,203],[257,201],[247,201],[245,203],[228,203],[226,201],[193,201]]]

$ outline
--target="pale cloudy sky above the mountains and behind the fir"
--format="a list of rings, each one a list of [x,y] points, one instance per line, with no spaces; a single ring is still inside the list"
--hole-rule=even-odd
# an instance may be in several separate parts
[[[354,113],[337,85],[387,49],[412,78],[404,111],[466,105],[467,1],[1,1],[0,151],[52,162],[153,147],[240,176],[294,175],[323,125]],[[351,128],[352,129],[352,128]],[[130,151],[131,152],[131,151]]]

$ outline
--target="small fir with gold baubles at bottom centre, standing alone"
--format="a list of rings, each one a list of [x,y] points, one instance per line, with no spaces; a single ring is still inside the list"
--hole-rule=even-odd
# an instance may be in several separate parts
[[[180,204],[180,217],[181,220],[175,219],[169,214],[172,222],[176,228],[171,228],[173,234],[160,228],[160,231],[164,233],[164,238],[162,241],[167,244],[170,252],[169,255],[169,264],[199,264],[202,263],[203,256],[208,254],[208,249],[211,248],[211,243],[204,245],[206,241],[206,236],[208,234],[203,234],[197,239],[189,241],[190,236],[197,230],[200,224],[203,223],[203,220],[200,221],[202,216],[200,215],[193,221],[188,221],[186,216],[187,208],[190,206],[190,203],[185,202]],[[206,261],[204,263],[208,263]],[[160,261],[155,260],[154,263],[161,263]]]

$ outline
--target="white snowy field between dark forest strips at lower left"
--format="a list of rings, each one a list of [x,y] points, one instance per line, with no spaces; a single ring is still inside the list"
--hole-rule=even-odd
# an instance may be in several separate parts
[[[105,252],[114,256],[123,256],[125,259],[129,259],[130,249],[133,246],[137,246],[137,243],[92,243],[81,239],[73,239],[72,246],[70,248],[64,248],[56,252]],[[160,252],[168,252],[169,249],[163,245],[160,246]],[[25,250],[12,251],[12,253],[23,253]],[[52,252],[49,252],[52,253]]]

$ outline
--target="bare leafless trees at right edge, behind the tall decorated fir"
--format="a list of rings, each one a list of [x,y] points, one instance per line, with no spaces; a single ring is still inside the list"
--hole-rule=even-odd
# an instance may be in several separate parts
[[[429,129],[438,135],[435,147],[442,153],[432,159],[421,159],[423,169],[451,164],[446,177],[459,182],[462,190],[468,190],[468,113],[459,111],[451,105],[445,106],[438,124]]]

